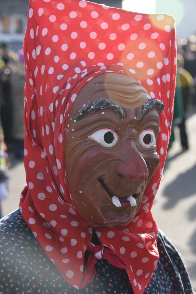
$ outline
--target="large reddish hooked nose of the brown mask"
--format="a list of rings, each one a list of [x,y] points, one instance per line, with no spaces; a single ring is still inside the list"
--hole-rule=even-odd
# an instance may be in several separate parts
[[[128,149],[128,150],[127,150]],[[135,148],[126,148],[120,154],[120,160],[116,163],[115,173],[120,179],[141,181],[148,178],[148,168],[143,157]]]

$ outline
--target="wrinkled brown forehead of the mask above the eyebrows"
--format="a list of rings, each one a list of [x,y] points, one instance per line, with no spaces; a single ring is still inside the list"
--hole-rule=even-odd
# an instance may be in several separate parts
[[[133,108],[142,106],[150,96],[134,78],[120,73],[104,73],[83,86],[76,98],[77,108],[101,98]]]

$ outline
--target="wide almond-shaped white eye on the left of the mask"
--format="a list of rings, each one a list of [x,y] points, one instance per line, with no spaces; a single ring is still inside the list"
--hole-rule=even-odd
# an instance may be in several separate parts
[[[104,147],[112,147],[118,141],[118,135],[115,131],[104,128],[88,136],[88,139],[93,139]]]

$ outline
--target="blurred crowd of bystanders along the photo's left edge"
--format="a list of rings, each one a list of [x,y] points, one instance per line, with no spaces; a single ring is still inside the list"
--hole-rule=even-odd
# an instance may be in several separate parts
[[[9,194],[6,144],[14,147],[16,158],[24,157],[24,85],[23,50],[14,52],[0,44],[0,218],[1,202]]]

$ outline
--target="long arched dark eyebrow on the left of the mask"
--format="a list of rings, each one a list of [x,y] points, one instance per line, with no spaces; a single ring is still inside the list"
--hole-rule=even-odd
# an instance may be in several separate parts
[[[110,100],[107,100],[105,98],[101,98],[101,99],[97,99],[91,103],[89,103],[88,105],[83,106],[83,108],[74,116],[71,118],[71,121],[78,121],[79,119],[93,114],[98,110],[102,110],[102,109],[112,109],[114,110],[118,116],[121,117],[122,121],[125,117],[125,113],[123,108],[118,105],[113,103]]]

